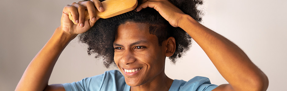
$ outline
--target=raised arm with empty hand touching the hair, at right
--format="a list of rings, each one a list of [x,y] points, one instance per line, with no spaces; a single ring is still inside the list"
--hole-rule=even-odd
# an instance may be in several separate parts
[[[156,9],[171,25],[182,28],[205,51],[229,83],[220,85],[213,91],[267,90],[267,76],[233,42],[201,25],[168,0],[147,0],[136,10],[140,11],[146,7]]]

